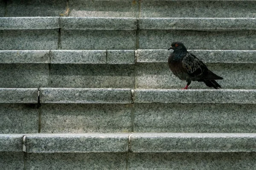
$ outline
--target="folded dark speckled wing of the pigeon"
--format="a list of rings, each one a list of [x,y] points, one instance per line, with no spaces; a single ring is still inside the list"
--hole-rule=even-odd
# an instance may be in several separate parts
[[[182,59],[182,67],[189,74],[190,77],[204,78],[208,68],[195,55],[186,53]]]

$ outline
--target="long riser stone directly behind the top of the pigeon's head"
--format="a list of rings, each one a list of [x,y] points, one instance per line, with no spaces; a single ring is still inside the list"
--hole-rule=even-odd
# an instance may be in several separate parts
[[[168,49],[180,41],[195,50],[256,50],[256,30],[140,30],[138,36],[139,49]]]

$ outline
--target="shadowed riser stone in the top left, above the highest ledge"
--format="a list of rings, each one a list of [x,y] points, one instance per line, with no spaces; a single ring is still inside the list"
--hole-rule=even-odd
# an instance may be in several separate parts
[[[66,11],[66,0],[12,0],[6,17],[59,17]]]

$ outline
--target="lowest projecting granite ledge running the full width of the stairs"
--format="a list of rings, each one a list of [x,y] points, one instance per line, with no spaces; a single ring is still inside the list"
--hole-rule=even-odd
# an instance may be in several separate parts
[[[0,142],[1,151],[26,153],[256,151],[256,133],[0,134]]]

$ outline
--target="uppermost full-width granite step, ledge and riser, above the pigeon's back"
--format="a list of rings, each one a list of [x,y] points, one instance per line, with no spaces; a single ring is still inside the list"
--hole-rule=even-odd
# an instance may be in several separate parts
[[[1,50],[166,49],[170,40],[180,40],[188,49],[197,50],[256,49],[255,18],[139,18],[137,24],[136,18],[60,17],[61,29],[56,28],[56,17],[0,20],[5,23],[0,31],[4,37]],[[53,25],[45,23],[48,20]]]

